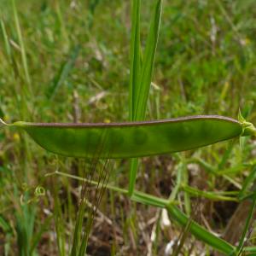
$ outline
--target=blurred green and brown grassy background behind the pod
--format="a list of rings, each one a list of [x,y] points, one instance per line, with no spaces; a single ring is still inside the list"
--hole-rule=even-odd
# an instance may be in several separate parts
[[[142,40],[152,3],[142,1]],[[0,0],[0,19],[0,116],[5,121],[128,120],[131,1]],[[202,113],[236,118],[241,108],[255,124],[255,32],[253,0],[165,1],[147,119]],[[236,142],[223,163],[228,147],[220,143],[144,158],[137,189],[167,197],[177,170],[183,168],[189,172],[187,183],[198,189],[239,189],[253,170],[255,145],[246,141],[241,150]],[[233,182],[205,172],[206,166],[195,164],[195,158],[220,167],[218,171],[231,170],[227,175]],[[77,160],[56,159],[23,133],[0,131],[1,255],[58,255],[53,187],[58,187],[65,216],[59,231],[70,241],[80,184],[45,177],[58,165],[63,172],[81,174]],[[117,161],[110,182],[127,187],[128,170],[126,161]],[[178,197],[181,207],[184,196]],[[199,205],[202,224],[229,233],[239,208],[236,202],[204,199]],[[92,255],[163,255],[180,232],[175,225],[162,224],[160,210],[136,206],[112,192],[106,193],[100,210],[90,236]],[[192,241],[183,253],[189,252]],[[191,250],[207,252],[200,242]]]

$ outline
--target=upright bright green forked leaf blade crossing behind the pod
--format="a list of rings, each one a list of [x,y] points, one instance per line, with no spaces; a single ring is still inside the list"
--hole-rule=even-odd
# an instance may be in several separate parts
[[[157,0],[154,5],[154,13],[150,22],[145,54],[142,67],[140,64],[140,28],[139,11],[140,1],[133,1],[132,12],[132,36],[131,36],[131,78],[130,78],[130,119],[143,120],[145,118],[148,93],[154,67],[154,56],[158,42],[160,29],[162,1]],[[136,70],[135,70],[136,69]],[[132,84],[131,84],[132,83]],[[137,177],[138,160],[131,160],[129,195],[133,194]]]

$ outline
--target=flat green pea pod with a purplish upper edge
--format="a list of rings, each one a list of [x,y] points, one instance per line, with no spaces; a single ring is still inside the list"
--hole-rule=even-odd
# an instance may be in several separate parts
[[[109,159],[179,152],[255,134],[251,123],[217,115],[111,124],[19,121],[8,126],[25,130],[36,143],[55,154]]]

